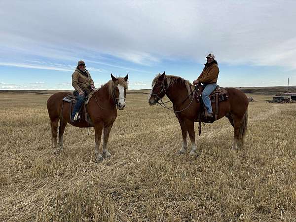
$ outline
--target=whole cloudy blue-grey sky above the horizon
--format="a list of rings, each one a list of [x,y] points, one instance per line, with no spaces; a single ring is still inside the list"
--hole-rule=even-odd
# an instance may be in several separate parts
[[[71,90],[77,61],[95,86],[129,74],[189,81],[214,53],[224,87],[296,85],[294,0],[0,0],[0,89]]]

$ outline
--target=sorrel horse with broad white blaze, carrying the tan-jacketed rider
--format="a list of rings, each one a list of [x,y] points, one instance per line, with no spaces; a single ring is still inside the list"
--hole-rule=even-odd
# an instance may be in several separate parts
[[[124,78],[116,78],[111,74],[109,80],[101,88],[93,92],[88,104],[87,111],[92,125],[95,128],[95,154],[96,160],[103,160],[103,156],[110,157],[107,143],[110,131],[117,117],[116,106],[119,110],[125,107],[125,95],[127,89],[128,75]],[[70,103],[63,101],[69,92],[58,92],[51,95],[47,100],[47,110],[50,118],[51,136],[55,151],[63,149],[63,134],[67,123],[76,127],[89,127],[88,122],[73,122],[70,119]],[[58,123],[59,126],[59,148],[57,147]],[[104,128],[103,149],[100,150],[101,135]]]

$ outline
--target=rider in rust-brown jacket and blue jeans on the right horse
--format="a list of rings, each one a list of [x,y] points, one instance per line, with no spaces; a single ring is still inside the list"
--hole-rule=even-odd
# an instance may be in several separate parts
[[[207,63],[199,75],[199,77],[193,81],[193,84],[203,83],[204,90],[202,91],[202,101],[207,109],[205,114],[206,118],[213,118],[212,105],[209,95],[215,90],[217,87],[217,80],[219,74],[218,63],[215,60],[215,55],[210,53],[207,57]]]

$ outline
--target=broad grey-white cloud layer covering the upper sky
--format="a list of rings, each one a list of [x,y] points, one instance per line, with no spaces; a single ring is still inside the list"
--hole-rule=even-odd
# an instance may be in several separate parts
[[[213,52],[227,64],[296,68],[291,60],[296,57],[295,1],[228,0],[210,7],[194,0],[1,4],[2,17],[10,19],[0,21],[0,46],[11,58],[22,53],[77,61],[108,54],[151,66],[174,58],[203,62]],[[79,14],[73,16],[75,11]]]

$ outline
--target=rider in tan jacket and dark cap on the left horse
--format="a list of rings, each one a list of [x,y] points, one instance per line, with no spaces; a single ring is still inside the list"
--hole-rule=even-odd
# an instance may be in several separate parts
[[[72,74],[72,85],[75,89],[74,95],[77,98],[72,112],[72,120],[76,121],[79,119],[78,111],[84,102],[85,96],[95,88],[94,81],[89,72],[85,69],[85,63],[82,60],[78,61],[77,67]]]

